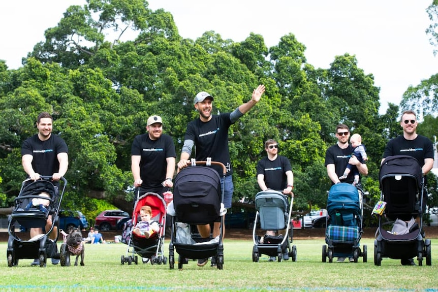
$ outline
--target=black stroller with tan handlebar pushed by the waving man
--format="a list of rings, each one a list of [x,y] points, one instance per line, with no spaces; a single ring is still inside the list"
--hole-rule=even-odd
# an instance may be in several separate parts
[[[209,166],[221,166],[224,178],[226,168],[222,163],[215,161],[192,160],[189,164],[191,166],[182,169],[176,175],[173,203],[168,206],[169,215],[172,216],[169,268],[174,268],[174,250],[176,249],[178,269],[182,269],[182,265],[187,264],[188,258],[199,259],[214,256],[217,269],[222,270],[224,266],[222,242],[224,216],[221,216],[221,204],[224,202],[224,187],[221,187],[219,174]],[[173,205],[174,214],[170,211],[171,205]],[[210,234],[210,238],[202,239],[199,234],[192,234],[190,231],[191,225],[210,224],[217,221],[221,223],[220,235],[216,238],[212,238]]]

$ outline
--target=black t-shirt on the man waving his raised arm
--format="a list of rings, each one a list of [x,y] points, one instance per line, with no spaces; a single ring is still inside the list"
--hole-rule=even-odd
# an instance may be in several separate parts
[[[198,161],[205,161],[211,157],[212,161],[218,161],[225,165],[226,175],[231,175],[230,153],[228,150],[228,129],[231,125],[230,113],[212,115],[208,122],[200,118],[187,124],[184,140],[195,142],[195,158]],[[223,169],[213,166],[222,177]]]

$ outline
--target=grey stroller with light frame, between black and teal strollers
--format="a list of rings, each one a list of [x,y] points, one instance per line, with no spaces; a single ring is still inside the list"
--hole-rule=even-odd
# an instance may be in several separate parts
[[[283,251],[287,251],[292,261],[297,261],[297,247],[291,246],[293,240],[290,228],[292,205],[294,198],[288,202],[288,197],[276,190],[260,191],[256,194],[256,218],[253,227],[253,262],[259,262],[260,254],[277,256],[281,262]],[[262,230],[287,230],[287,235],[265,236],[263,243],[256,235],[257,224],[260,221]]]

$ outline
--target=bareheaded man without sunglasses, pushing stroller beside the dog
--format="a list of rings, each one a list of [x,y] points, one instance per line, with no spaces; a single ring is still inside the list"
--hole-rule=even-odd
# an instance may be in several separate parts
[[[55,186],[63,177],[69,166],[69,149],[66,142],[57,135],[52,135],[53,118],[47,112],[42,112],[37,118],[38,134],[27,138],[21,146],[21,162],[24,171],[32,180],[38,180],[41,176],[52,176]],[[52,216],[49,215],[45,230],[52,226]],[[43,234],[42,228],[31,228],[30,237]],[[49,235],[55,239],[57,228],[54,226]],[[52,264],[59,263],[59,259],[52,258]],[[32,265],[39,265],[35,259]]]

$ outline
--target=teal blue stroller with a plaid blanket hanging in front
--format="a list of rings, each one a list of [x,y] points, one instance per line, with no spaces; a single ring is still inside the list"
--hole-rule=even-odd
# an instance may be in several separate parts
[[[350,257],[357,263],[359,257],[367,261],[367,247],[360,249],[363,223],[363,190],[349,183],[331,186],[327,198],[326,235],[322,261],[327,257]]]

